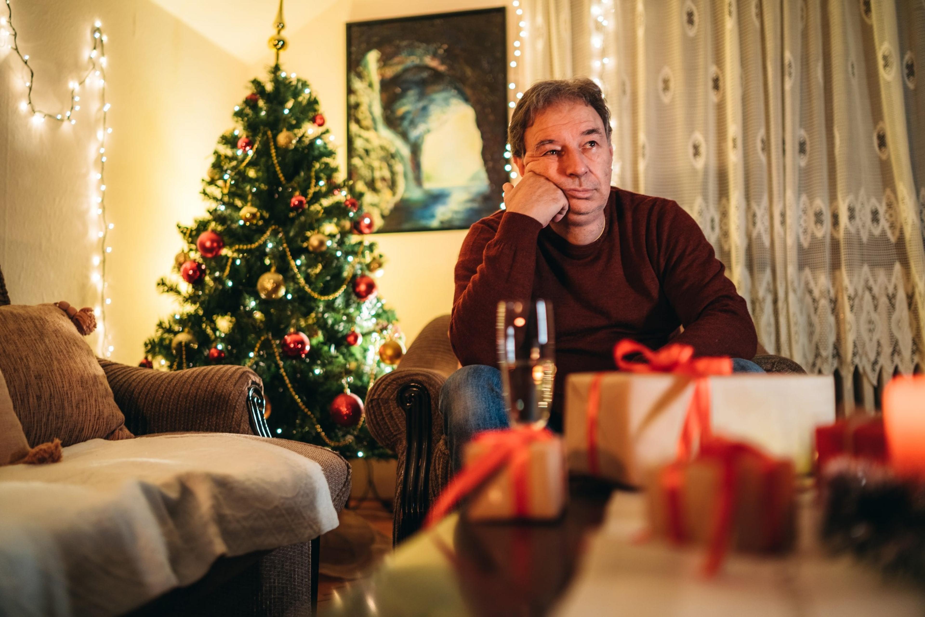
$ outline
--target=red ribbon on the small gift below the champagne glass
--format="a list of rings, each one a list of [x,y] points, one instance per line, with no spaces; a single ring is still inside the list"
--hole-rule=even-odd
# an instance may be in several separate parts
[[[505,465],[511,466],[514,513],[524,517],[530,513],[530,444],[552,438],[548,429],[509,428],[476,433],[474,442],[483,444],[486,452],[466,464],[440,493],[430,512],[425,527],[437,524],[462,498],[481,487]]]

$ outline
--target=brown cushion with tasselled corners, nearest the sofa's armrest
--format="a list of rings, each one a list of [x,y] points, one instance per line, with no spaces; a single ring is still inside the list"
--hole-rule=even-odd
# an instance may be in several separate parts
[[[103,368],[54,304],[0,306],[0,372],[31,446],[131,438]]]

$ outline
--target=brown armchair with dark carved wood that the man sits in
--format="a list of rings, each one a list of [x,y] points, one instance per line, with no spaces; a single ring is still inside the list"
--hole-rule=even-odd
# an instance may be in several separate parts
[[[450,450],[443,435],[440,389],[460,363],[450,345],[450,315],[431,321],[399,367],[382,376],[366,396],[366,424],[398,456],[392,540],[398,544],[424,522],[449,479]],[[759,345],[754,362],[768,373],[805,373],[793,360]]]

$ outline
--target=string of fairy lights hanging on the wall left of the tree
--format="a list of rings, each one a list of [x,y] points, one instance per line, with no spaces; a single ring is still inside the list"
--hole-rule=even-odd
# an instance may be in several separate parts
[[[92,180],[95,187],[91,208],[96,214],[96,239],[99,241],[99,253],[93,254],[93,270],[91,280],[96,286],[99,293],[99,302],[93,307],[93,313],[96,315],[97,331],[99,334],[100,352],[106,357],[112,355],[114,350],[110,344],[109,331],[106,328],[106,306],[112,303],[106,289],[106,255],[112,253],[112,246],[109,244],[109,232],[115,227],[106,220],[106,184],[105,184],[105,166],[106,166],[106,137],[112,133],[112,128],[108,126],[108,112],[110,105],[106,102],[106,54],[105,43],[106,35],[103,32],[103,24],[96,21],[91,30],[92,48],[87,55],[87,70],[83,73],[80,80],[70,81],[70,106],[67,111],[62,113],[52,113],[44,111],[37,107],[32,101],[32,89],[35,87],[35,71],[32,69],[29,55],[23,54],[19,48],[19,33],[13,25],[13,7],[10,0],[6,0],[6,17],[0,17],[0,48],[10,47],[19,61],[26,69],[27,74],[23,77],[23,83],[26,88],[25,98],[19,103],[19,109],[26,114],[31,114],[32,122],[36,125],[42,125],[45,120],[59,122],[62,125],[77,124],[77,112],[80,111],[80,93],[89,91],[94,88],[99,95],[101,109],[101,125],[96,131],[96,140],[98,148],[98,163],[93,166]],[[12,39],[12,42],[10,42]],[[93,91],[90,91],[93,93]]]

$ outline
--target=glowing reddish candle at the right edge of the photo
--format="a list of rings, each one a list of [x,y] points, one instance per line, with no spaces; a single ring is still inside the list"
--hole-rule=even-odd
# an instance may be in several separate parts
[[[883,428],[894,470],[925,477],[925,376],[898,376],[886,385]]]

